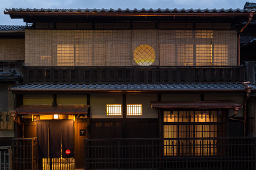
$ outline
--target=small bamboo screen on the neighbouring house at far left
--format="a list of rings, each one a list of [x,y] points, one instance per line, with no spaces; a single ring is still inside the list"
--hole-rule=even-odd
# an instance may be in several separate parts
[[[0,60],[24,60],[24,39],[0,39]]]

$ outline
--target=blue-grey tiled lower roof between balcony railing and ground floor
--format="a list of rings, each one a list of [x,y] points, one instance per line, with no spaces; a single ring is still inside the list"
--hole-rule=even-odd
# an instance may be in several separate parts
[[[255,88],[256,86],[250,85]],[[186,83],[186,84],[24,84],[12,91],[243,91],[238,83]]]

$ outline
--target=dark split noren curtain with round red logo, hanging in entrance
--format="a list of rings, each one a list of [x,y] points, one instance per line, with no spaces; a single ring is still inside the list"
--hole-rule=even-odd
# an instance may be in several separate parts
[[[74,121],[43,120],[36,122],[38,158],[74,157]],[[50,149],[48,149],[48,147]],[[67,152],[68,150],[68,152]],[[70,152],[69,152],[70,151]],[[66,154],[67,153],[67,154]]]

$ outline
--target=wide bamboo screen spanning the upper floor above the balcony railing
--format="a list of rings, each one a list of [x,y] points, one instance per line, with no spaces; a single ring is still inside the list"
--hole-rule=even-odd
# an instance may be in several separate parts
[[[25,58],[27,66],[236,65],[237,36],[235,30],[26,30]]]

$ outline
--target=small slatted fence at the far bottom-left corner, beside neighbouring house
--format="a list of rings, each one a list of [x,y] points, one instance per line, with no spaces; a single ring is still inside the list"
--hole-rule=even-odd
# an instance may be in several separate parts
[[[2,170],[11,170],[12,169],[12,148],[0,147],[0,169]]]

